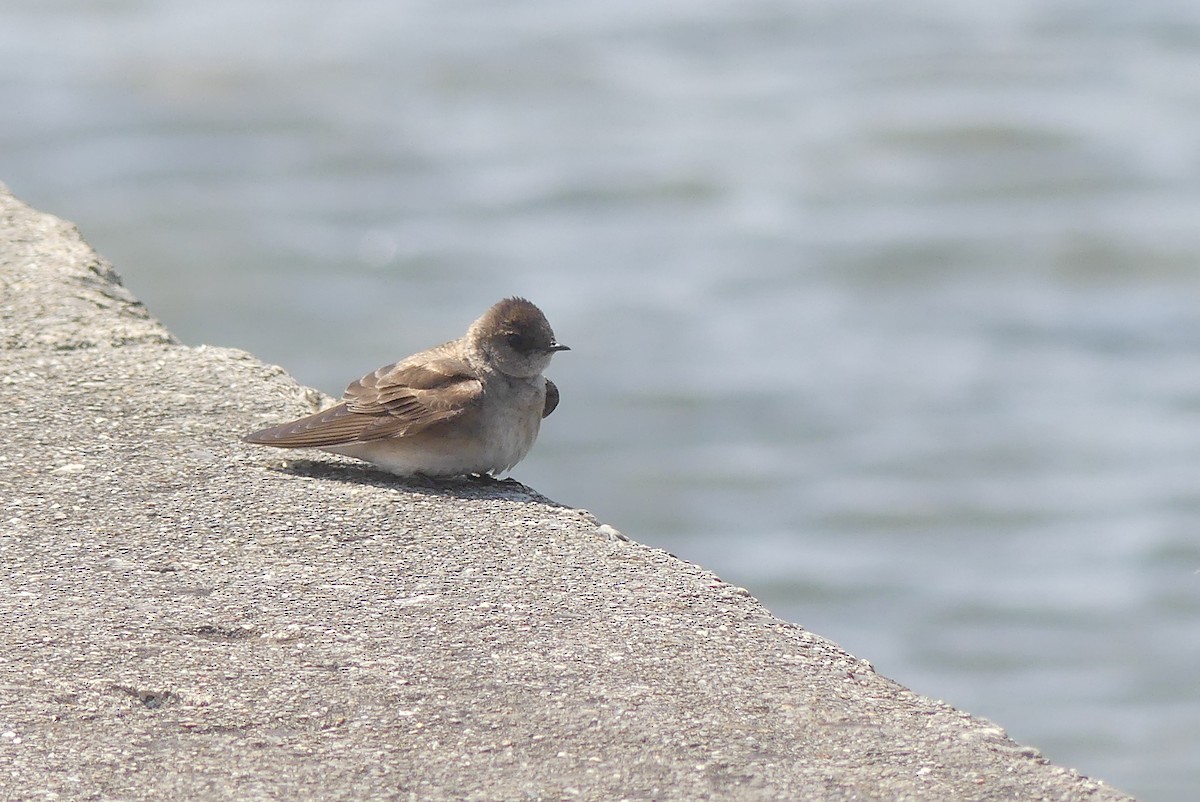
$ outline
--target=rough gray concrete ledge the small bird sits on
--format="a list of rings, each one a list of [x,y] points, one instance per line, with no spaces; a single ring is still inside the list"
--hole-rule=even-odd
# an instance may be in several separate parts
[[[518,484],[242,445],[316,394],[2,186],[0,293],[0,798],[1130,798]]]

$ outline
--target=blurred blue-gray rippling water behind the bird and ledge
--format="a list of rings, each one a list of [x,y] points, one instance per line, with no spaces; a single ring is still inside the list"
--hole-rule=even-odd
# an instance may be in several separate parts
[[[506,294],[515,472],[1200,788],[1200,6],[0,0],[0,180],[340,393]]]

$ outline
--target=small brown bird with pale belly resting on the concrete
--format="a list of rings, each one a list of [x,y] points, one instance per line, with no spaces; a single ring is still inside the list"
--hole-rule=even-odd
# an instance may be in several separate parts
[[[368,373],[336,406],[247,435],[318,448],[398,475],[502,473],[529,453],[558,388],[541,372],[557,351],[541,310],[506,298],[467,334]]]

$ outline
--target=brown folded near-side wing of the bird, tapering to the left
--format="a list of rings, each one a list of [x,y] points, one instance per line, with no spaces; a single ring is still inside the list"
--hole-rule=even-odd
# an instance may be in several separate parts
[[[464,414],[482,394],[482,382],[462,360],[410,358],[367,373],[346,388],[342,402],[329,409],[245,439],[282,448],[320,448],[404,437]]]

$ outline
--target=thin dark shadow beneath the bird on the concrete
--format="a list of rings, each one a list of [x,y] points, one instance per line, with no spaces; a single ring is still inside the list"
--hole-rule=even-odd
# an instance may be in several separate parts
[[[398,477],[386,471],[372,468],[368,465],[349,462],[330,462],[326,460],[281,460],[268,466],[268,469],[287,473],[294,477],[344,481],[355,485],[368,485],[422,496],[439,496],[472,499],[533,501],[553,507],[565,507],[546,498],[536,490],[523,485],[516,479],[497,479],[488,474],[469,477]]]

